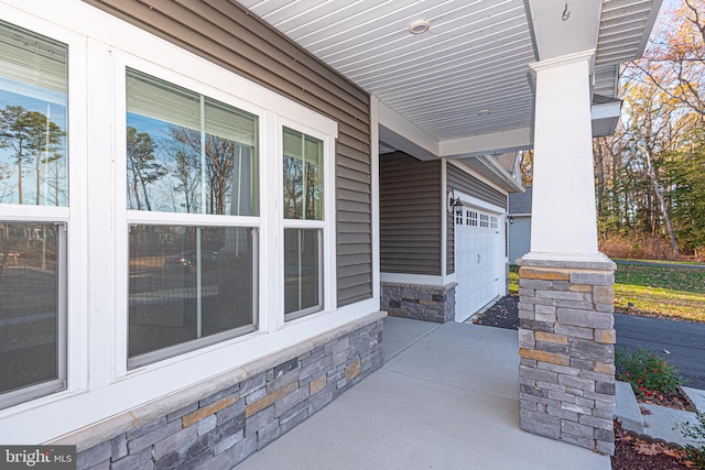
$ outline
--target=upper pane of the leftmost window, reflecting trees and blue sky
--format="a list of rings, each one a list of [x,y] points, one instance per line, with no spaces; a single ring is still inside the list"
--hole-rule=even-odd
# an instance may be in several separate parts
[[[68,204],[67,55],[0,22],[0,203]]]

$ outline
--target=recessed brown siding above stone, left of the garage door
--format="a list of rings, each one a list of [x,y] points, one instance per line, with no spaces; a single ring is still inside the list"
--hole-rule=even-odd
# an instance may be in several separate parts
[[[441,161],[380,155],[380,266],[386,273],[441,274]]]

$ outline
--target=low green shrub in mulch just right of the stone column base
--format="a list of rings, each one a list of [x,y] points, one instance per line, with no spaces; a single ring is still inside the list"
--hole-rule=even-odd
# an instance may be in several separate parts
[[[679,370],[659,354],[639,348],[636,351],[619,350],[615,354],[617,379],[629,382],[637,396],[675,395],[684,383]]]

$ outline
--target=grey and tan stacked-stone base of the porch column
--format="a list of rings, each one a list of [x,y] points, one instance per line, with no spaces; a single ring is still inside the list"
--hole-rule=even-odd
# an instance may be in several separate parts
[[[525,258],[520,265],[521,428],[612,455],[616,266]]]

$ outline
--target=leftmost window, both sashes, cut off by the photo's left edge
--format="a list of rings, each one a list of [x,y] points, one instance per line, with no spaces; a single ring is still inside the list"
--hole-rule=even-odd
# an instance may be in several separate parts
[[[66,385],[67,56],[0,22],[0,407]]]

